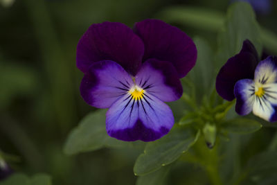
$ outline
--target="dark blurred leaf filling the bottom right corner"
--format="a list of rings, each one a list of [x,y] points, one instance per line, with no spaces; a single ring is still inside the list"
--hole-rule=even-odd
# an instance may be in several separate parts
[[[242,182],[246,185],[277,184],[277,150],[262,152],[249,159],[247,167],[241,173]]]

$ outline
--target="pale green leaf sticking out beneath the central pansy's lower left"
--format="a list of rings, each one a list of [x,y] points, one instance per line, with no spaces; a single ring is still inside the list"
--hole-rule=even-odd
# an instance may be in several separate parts
[[[101,109],[85,116],[78,127],[69,134],[64,152],[66,155],[74,155],[80,152],[98,150],[105,146],[127,146],[124,141],[108,136],[106,131],[106,110]]]

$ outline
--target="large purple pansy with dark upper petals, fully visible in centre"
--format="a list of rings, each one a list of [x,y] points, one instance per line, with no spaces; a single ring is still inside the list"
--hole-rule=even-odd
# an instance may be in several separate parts
[[[123,141],[154,141],[174,124],[166,103],[183,92],[179,78],[195,65],[193,40],[163,21],[92,24],[77,46],[84,73],[82,98],[107,111],[109,136]]]

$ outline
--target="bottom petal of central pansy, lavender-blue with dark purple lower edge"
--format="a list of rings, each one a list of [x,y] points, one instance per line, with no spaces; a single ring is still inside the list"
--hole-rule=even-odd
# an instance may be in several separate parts
[[[111,105],[106,116],[109,136],[123,141],[154,141],[174,125],[170,107],[148,93],[140,100],[126,94]]]

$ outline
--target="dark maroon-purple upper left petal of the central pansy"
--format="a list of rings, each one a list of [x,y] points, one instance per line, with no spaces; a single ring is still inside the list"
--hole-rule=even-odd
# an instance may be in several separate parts
[[[143,53],[142,40],[124,24],[92,24],[78,43],[77,67],[85,73],[94,62],[112,60],[135,75]]]

